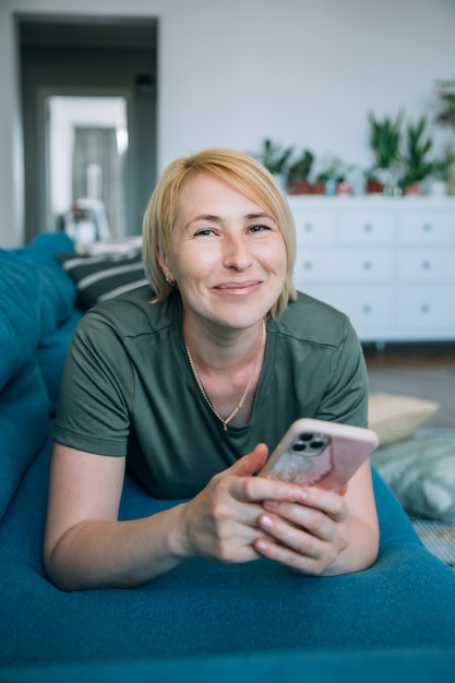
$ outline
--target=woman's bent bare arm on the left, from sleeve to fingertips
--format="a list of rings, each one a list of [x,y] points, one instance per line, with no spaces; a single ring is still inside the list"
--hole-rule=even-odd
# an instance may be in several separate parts
[[[189,503],[118,522],[124,458],[53,448],[44,558],[62,590],[144,584],[184,559],[249,562],[264,499],[303,500],[294,484],[253,478],[267,455],[264,444],[216,475]],[[294,493],[292,493],[294,491]]]

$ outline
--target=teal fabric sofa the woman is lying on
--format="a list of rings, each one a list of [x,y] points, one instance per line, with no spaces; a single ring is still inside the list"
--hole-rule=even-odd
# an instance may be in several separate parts
[[[0,250],[0,681],[454,680],[455,573],[375,471],[381,547],[366,572],[315,578],[267,561],[191,560],[135,589],[49,583],[52,419],[83,315],[55,257],[71,251],[63,233]],[[121,516],[175,503],[128,478]]]

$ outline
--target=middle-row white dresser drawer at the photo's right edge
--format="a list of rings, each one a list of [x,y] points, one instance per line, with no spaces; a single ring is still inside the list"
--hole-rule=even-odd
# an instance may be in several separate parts
[[[407,249],[398,255],[400,281],[455,283],[455,249]]]

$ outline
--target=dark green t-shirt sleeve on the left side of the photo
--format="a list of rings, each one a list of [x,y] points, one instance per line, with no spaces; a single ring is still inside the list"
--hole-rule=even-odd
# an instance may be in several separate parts
[[[132,364],[118,333],[103,314],[86,313],[68,352],[55,440],[87,453],[125,455],[133,391]]]

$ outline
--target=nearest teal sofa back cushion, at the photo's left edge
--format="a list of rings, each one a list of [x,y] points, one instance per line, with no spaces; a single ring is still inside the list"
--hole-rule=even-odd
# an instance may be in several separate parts
[[[0,518],[50,431],[37,349],[53,323],[43,291],[39,265],[0,250]]]

